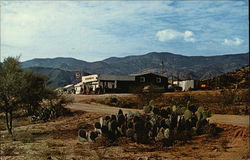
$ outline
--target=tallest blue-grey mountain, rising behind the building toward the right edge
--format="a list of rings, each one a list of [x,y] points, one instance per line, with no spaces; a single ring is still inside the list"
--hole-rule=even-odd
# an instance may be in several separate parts
[[[178,76],[180,78],[201,79],[218,76],[246,66],[249,54],[235,54],[222,56],[182,56],[167,52],[152,52],[142,56],[128,56],[124,58],[108,58],[104,60],[122,73],[147,72],[154,70],[160,72],[160,63],[164,62],[163,70],[166,75]]]

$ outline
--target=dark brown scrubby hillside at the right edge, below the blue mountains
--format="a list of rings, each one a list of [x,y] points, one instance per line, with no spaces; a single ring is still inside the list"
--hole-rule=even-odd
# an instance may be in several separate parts
[[[242,67],[218,77],[203,79],[212,88],[249,88],[250,67]]]

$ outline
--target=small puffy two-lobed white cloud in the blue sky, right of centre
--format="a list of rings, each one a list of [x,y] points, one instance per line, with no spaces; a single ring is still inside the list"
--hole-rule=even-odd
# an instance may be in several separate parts
[[[165,42],[177,38],[183,38],[184,41],[186,42],[195,42],[196,39],[193,37],[193,32],[192,31],[185,31],[185,32],[178,32],[172,29],[165,29],[158,31],[156,33],[156,37],[159,41]]]

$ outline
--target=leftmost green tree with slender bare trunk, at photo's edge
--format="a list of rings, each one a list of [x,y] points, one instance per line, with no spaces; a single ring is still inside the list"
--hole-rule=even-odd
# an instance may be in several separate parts
[[[7,58],[0,68],[1,111],[5,112],[8,132],[12,134],[12,115],[22,101],[23,70],[18,58]]]

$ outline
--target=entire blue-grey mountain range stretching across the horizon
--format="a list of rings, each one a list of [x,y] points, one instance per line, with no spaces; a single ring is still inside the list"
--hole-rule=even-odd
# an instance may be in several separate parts
[[[168,52],[111,57],[87,62],[74,58],[44,58],[22,62],[23,68],[48,75],[54,86],[74,82],[75,72],[90,74],[161,73],[179,79],[204,79],[232,72],[249,65],[249,53],[218,56],[184,56]],[[58,80],[60,79],[60,82]]]

